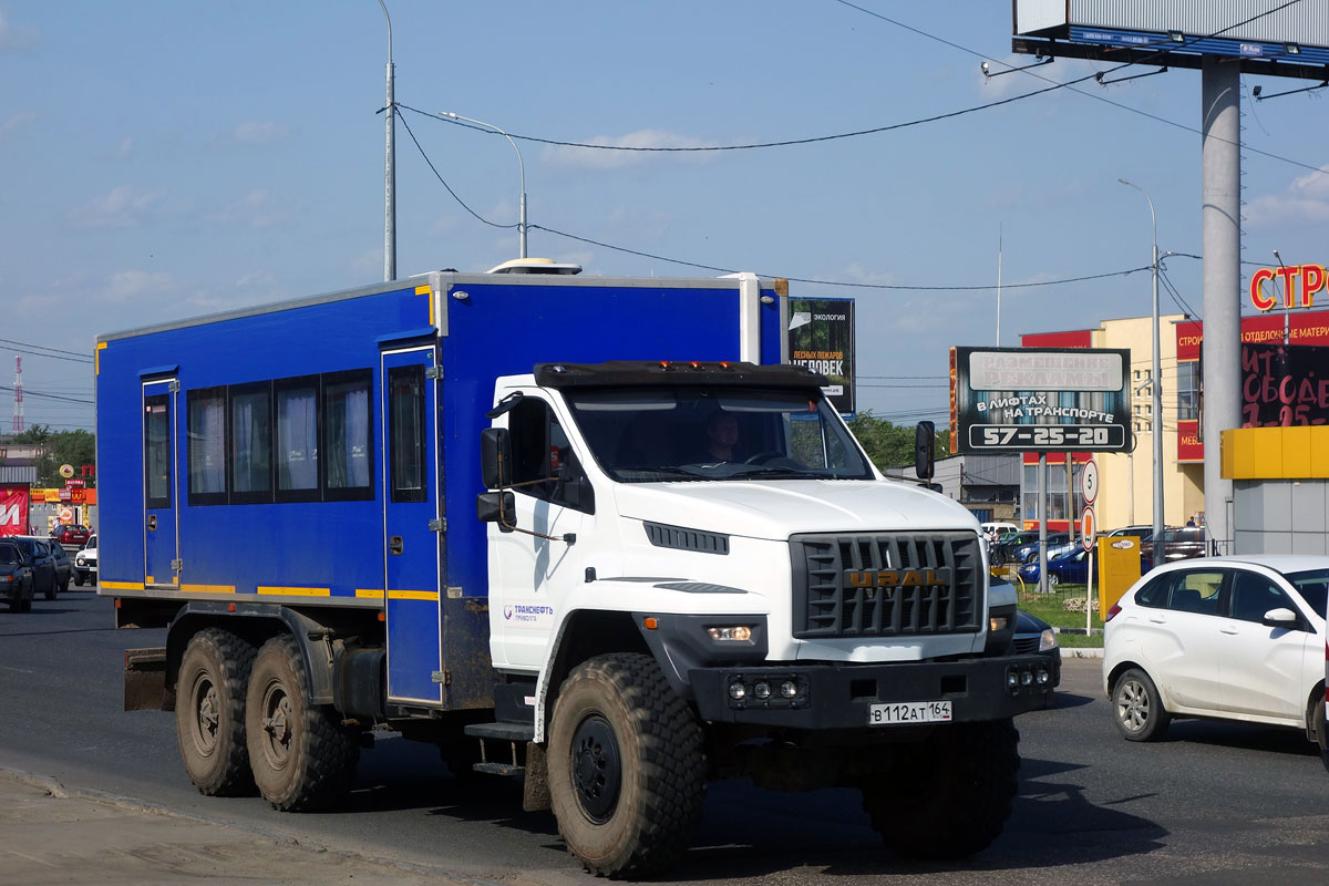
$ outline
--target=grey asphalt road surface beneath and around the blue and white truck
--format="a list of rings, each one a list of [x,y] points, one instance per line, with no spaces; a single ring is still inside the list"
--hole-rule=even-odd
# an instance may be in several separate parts
[[[520,784],[461,785],[432,747],[380,737],[347,806],[320,816],[189,784],[173,716],[121,711],[125,648],[161,631],[114,631],[110,600],[70,588],[0,611],[0,766],[183,814],[369,858],[513,885],[590,882],[554,821],[521,812]],[[711,786],[695,847],[670,882],[1306,883],[1329,878],[1329,773],[1290,731],[1175,723],[1168,740],[1120,740],[1099,662],[1067,660],[1054,708],[1017,723],[1022,786],[1006,833],[964,863],[881,849],[851,790],[779,794]],[[279,879],[280,871],[272,873]],[[3,878],[0,878],[3,879]],[[89,881],[93,882],[93,881]]]

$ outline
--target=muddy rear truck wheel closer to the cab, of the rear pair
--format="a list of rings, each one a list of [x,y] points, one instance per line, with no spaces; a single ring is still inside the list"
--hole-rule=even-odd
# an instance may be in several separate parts
[[[340,716],[310,701],[310,679],[295,638],[272,638],[258,651],[245,705],[254,782],[282,812],[334,806],[355,784],[359,736]]]

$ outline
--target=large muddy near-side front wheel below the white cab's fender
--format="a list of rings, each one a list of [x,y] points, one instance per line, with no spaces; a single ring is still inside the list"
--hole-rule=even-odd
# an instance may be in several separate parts
[[[558,830],[587,871],[643,877],[692,838],[706,797],[702,727],[654,659],[591,659],[563,681],[549,732]]]

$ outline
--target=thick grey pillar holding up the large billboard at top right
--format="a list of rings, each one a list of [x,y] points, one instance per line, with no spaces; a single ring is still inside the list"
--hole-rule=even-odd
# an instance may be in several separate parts
[[[1220,432],[1241,426],[1241,102],[1235,60],[1204,57],[1201,209],[1204,251],[1204,515],[1232,550],[1232,481],[1221,476]],[[1172,393],[1175,399],[1175,392]]]

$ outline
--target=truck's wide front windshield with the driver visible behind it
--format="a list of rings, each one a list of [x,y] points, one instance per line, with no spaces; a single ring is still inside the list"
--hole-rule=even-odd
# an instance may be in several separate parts
[[[565,393],[595,461],[619,482],[873,478],[820,392],[716,385]]]

